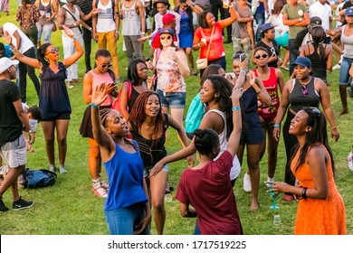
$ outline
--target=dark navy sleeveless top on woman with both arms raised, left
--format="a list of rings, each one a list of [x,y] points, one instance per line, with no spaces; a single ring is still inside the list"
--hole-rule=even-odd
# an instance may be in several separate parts
[[[58,62],[59,71],[54,73],[49,66],[43,66],[40,78],[39,108],[43,121],[52,120],[62,113],[71,113],[69,94],[66,89],[66,69],[62,62]]]

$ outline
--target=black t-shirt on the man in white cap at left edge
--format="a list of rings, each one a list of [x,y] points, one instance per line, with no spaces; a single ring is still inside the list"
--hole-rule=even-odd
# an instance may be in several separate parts
[[[23,125],[14,108],[14,101],[19,98],[21,94],[14,82],[0,80],[0,146],[22,134]]]

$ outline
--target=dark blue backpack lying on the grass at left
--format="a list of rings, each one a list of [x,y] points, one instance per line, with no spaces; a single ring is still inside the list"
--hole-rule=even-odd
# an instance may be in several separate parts
[[[42,188],[52,186],[55,183],[57,175],[48,170],[31,171],[25,169],[24,179],[26,180],[27,188]]]

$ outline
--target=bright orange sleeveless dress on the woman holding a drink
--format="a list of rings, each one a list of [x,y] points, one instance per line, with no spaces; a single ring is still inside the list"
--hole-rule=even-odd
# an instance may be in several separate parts
[[[327,152],[328,153],[328,152]],[[300,150],[291,162],[291,171],[302,187],[315,188],[309,164],[302,164],[295,172]],[[328,153],[329,155],[329,153]],[[329,192],[325,200],[301,199],[295,220],[295,235],[345,235],[345,206],[333,179],[331,160],[326,164]]]

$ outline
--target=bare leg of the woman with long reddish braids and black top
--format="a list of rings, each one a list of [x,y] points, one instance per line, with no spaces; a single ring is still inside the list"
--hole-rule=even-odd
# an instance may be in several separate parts
[[[153,219],[155,220],[157,235],[162,235],[166,222],[166,209],[164,207],[164,196],[167,186],[167,172],[161,171],[149,178],[149,189],[151,192],[151,203],[153,207]]]

